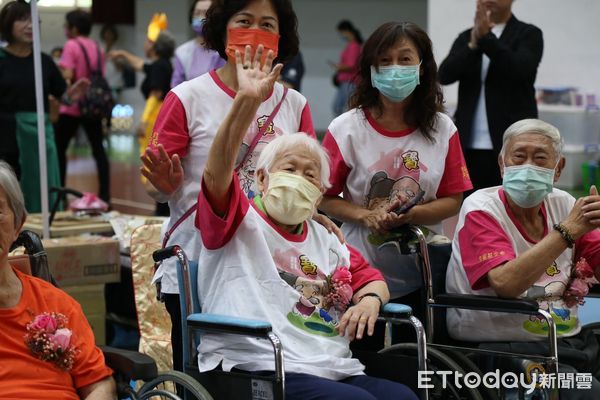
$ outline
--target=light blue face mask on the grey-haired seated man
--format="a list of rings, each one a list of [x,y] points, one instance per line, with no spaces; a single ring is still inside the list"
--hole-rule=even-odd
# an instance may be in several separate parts
[[[519,207],[532,208],[552,192],[554,169],[523,164],[504,167],[502,187]]]

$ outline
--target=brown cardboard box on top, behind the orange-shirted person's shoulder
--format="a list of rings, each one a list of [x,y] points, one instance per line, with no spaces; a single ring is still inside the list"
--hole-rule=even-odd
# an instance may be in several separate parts
[[[50,273],[61,287],[119,282],[119,242],[103,236],[44,239]]]

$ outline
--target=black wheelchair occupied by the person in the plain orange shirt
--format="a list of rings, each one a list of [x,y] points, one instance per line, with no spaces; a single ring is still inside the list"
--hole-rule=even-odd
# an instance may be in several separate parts
[[[20,271],[43,279],[58,287],[48,268],[48,259],[42,241],[34,232],[24,230],[11,245],[10,251],[18,247],[25,248],[25,254],[9,257],[10,264]],[[158,373],[154,360],[142,353],[100,346],[104,353],[106,365],[113,371],[117,384],[119,399],[146,400],[172,399],[181,400],[175,392],[175,386],[184,387],[190,399],[212,400],[208,392],[196,380],[178,372]],[[131,382],[140,382],[135,389]]]

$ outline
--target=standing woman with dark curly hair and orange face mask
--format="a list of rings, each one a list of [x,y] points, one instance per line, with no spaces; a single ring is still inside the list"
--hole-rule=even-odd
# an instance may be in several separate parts
[[[276,62],[283,63],[298,52],[297,25],[290,0],[213,1],[204,22],[204,39],[207,48],[217,51],[227,63],[182,83],[165,97],[150,145],[142,156],[142,173],[156,188],[153,197],[169,202],[171,216],[163,230],[163,244],[180,245],[192,260],[198,259],[201,248],[194,219],[206,157],[239,88],[235,50],[243,53],[250,46],[254,54],[262,45],[265,57],[272,50]],[[277,83],[263,99],[238,153],[236,172],[249,197],[254,194],[254,170],[262,148],[274,138],[293,132],[315,136],[310,110],[300,93],[286,91]],[[329,220],[323,224],[334,229]],[[180,369],[181,315],[174,260],[163,262],[154,280],[161,282],[171,315],[174,367]]]

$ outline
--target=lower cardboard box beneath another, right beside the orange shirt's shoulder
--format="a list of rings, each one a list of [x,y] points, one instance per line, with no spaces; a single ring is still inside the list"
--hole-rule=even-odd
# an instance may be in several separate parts
[[[106,301],[104,285],[81,285],[61,287],[81,305],[94,332],[96,345],[106,344]]]

